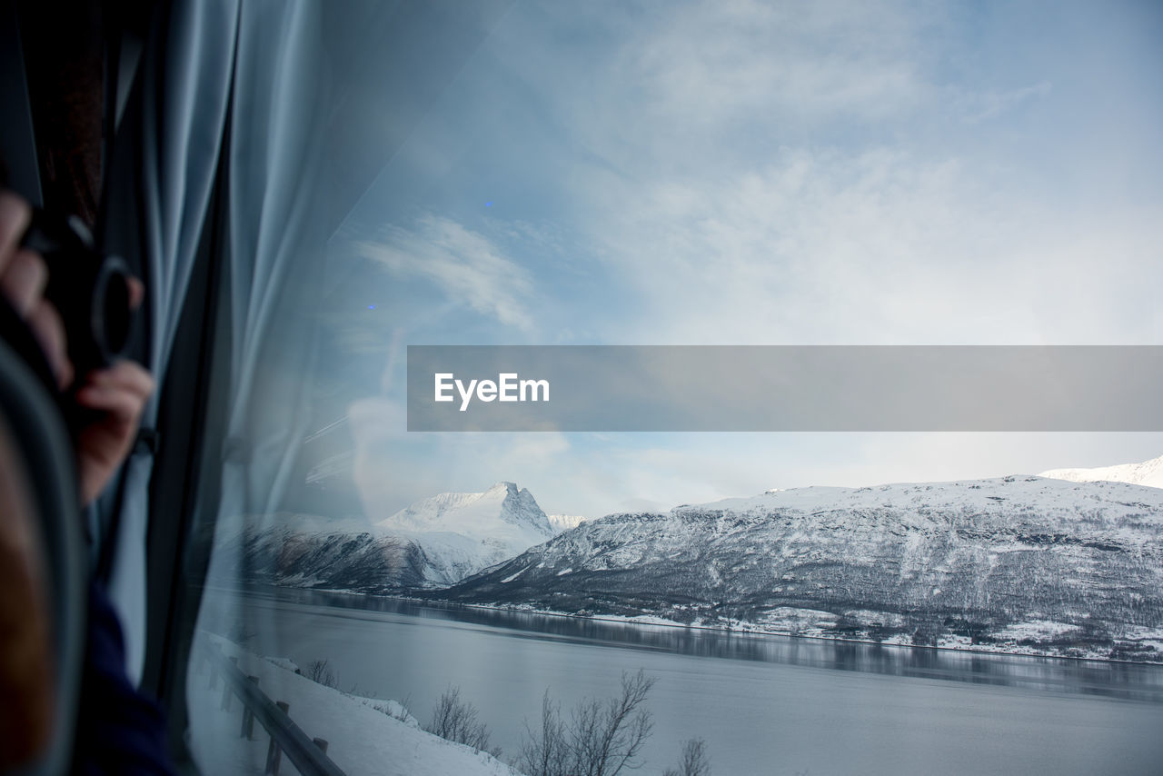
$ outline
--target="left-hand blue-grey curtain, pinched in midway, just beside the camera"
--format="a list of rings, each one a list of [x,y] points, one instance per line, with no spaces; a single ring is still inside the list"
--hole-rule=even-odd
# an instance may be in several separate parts
[[[144,363],[162,383],[207,215],[226,124],[237,31],[236,0],[174,2],[143,57],[108,166],[105,247],[136,257],[148,289]],[[160,34],[158,34],[160,33]],[[157,419],[158,398],[142,426]],[[126,670],[138,681],[145,655],[145,535],[154,461],[138,450],[95,506],[91,534],[108,554],[108,589],[121,618]],[[113,547],[101,546],[107,536]]]

